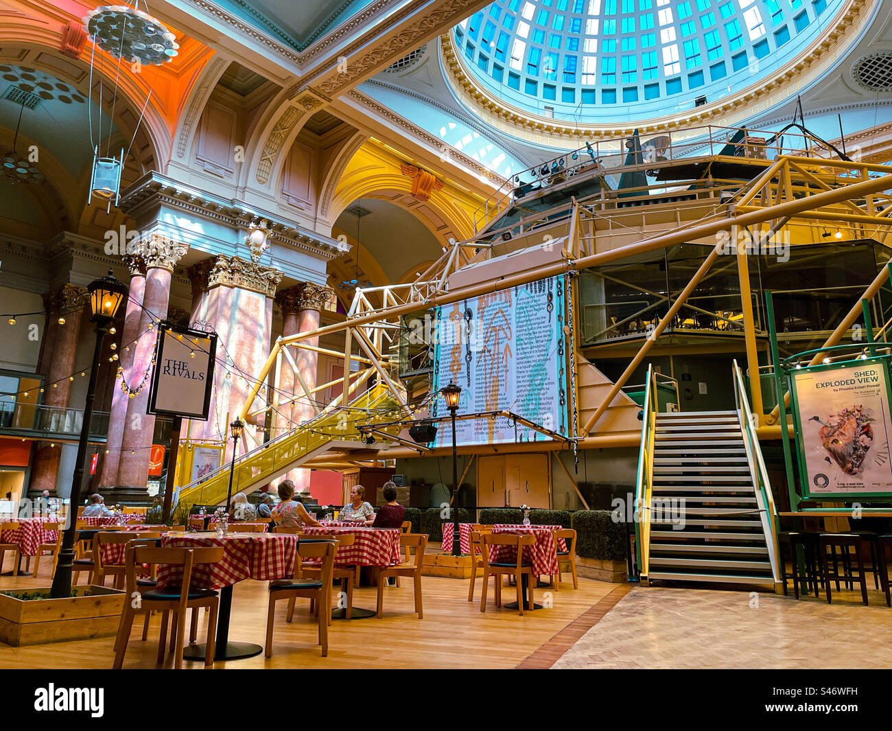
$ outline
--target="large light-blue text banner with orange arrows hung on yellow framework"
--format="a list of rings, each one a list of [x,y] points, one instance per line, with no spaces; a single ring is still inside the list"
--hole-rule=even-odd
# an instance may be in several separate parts
[[[511,411],[567,436],[565,307],[565,279],[552,277],[434,308],[434,388],[461,386],[458,415]],[[442,399],[432,411],[448,414]],[[551,438],[507,417],[456,424],[457,444]],[[435,444],[452,444],[448,423]]]

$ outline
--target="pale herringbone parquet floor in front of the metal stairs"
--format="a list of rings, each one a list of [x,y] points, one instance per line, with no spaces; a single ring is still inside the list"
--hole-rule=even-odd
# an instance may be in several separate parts
[[[833,603],[739,591],[637,586],[556,669],[892,668],[892,609],[878,591]]]

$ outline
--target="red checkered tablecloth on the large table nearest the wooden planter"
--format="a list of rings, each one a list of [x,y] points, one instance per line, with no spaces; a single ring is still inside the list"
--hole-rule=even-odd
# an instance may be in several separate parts
[[[228,536],[188,536],[169,533],[161,538],[165,548],[223,546],[223,558],[202,564],[192,571],[191,586],[222,589],[245,578],[271,581],[292,576],[298,536],[288,533],[230,533]],[[158,587],[179,586],[182,567],[159,566]]]

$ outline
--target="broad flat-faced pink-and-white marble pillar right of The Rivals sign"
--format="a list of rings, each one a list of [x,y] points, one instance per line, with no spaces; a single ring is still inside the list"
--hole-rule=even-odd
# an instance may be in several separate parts
[[[192,422],[192,439],[219,443],[228,436],[228,424],[247,401],[252,377],[260,372],[268,357],[273,297],[282,276],[280,271],[237,256],[218,256],[214,260],[194,320],[211,326],[219,335],[218,362],[210,418]],[[260,401],[255,404],[260,406]],[[255,441],[263,441],[259,432],[264,421],[262,413],[247,420],[245,433],[253,439],[244,437],[239,444],[240,454],[252,449]],[[225,458],[231,457],[232,442],[227,440]]]

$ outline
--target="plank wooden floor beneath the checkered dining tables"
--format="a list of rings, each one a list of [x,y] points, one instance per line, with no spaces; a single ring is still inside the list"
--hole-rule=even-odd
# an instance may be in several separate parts
[[[9,563],[7,559],[7,569]],[[0,590],[50,586],[49,564],[45,561],[45,568],[41,566],[38,578],[0,577]],[[467,601],[467,581],[424,577],[422,586],[425,619],[419,620],[412,613],[412,587],[404,580],[400,588],[385,589],[384,619],[335,620],[329,631],[326,658],[319,656],[315,644],[317,630],[310,624],[306,611],[309,602],[302,602],[302,608],[298,604],[290,625],[285,621],[287,602],[279,602],[273,656],[268,660],[260,654],[246,660],[219,662],[215,668],[514,668],[616,588],[613,584],[580,578],[580,587],[574,590],[572,582],[565,581],[558,592],[550,593],[551,609],[520,617],[516,611],[496,609],[492,586],[486,611],[481,613],[479,579],[473,603]],[[543,602],[549,591],[537,590],[536,602]],[[513,592],[513,587],[505,587],[503,600],[513,601]],[[264,643],[267,601],[266,582],[243,581],[235,586],[230,641]],[[376,589],[356,590],[353,604],[374,609]],[[203,631],[202,612],[200,642]],[[149,639],[142,642],[142,621],[138,619],[124,660],[125,669],[156,667],[158,632],[159,620],[154,618]],[[108,669],[113,643],[113,637],[32,647],[0,643],[0,668]],[[166,667],[170,666],[168,655]],[[184,668],[202,669],[202,663],[186,662]]]

